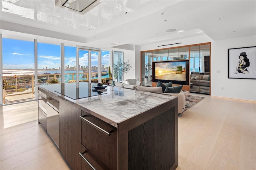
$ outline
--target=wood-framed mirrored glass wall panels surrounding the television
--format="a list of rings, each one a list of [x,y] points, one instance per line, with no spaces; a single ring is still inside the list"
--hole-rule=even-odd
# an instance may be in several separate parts
[[[152,62],[154,61],[189,61],[190,79],[187,87],[191,92],[210,94],[210,45],[203,43],[198,45],[187,45],[170,49],[158,49],[141,52],[141,82],[142,86],[152,84]],[[193,74],[193,75],[192,75]],[[205,76],[204,76],[205,75]]]

